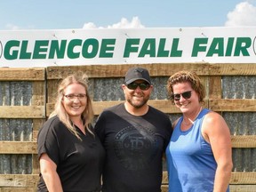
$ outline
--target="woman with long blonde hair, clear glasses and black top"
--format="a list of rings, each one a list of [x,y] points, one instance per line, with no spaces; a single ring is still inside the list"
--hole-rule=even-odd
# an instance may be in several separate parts
[[[100,191],[105,151],[92,129],[87,77],[72,75],[58,87],[55,108],[38,132],[38,191]]]

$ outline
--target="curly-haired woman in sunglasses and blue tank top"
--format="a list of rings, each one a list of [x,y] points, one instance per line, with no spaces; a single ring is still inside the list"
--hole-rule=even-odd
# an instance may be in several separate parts
[[[166,148],[169,192],[229,191],[229,128],[222,116],[202,107],[205,91],[200,78],[180,71],[169,78],[167,90],[182,113]]]

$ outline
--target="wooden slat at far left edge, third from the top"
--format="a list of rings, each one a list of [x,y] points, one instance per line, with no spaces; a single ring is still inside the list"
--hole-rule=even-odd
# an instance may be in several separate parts
[[[37,154],[35,141],[0,141],[0,154]]]

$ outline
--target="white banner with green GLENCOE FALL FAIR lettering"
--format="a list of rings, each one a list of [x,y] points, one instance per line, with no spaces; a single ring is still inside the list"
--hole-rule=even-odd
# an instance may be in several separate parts
[[[0,67],[256,63],[256,27],[0,31]]]

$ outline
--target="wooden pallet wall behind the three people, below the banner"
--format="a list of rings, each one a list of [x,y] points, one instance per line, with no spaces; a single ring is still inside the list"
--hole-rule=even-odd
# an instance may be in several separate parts
[[[96,91],[97,85],[95,84],[97,84],[98,81],[110,82],[113,86],[116,86],[116,83],[122,84],[122,78],[124,77],[125,72],[128,68],[131,68],[132,66],[137,65],[120,64],[48,68],[0,68],[0,81],[33,82],[33,98],[31,106],[0,106],[0,118],[29,118],[33,120],[32,140],[22,142],[0,140],[0,156],[2,154],[31,154],[33,156],[33,162],[31,164],[32,172],[31,174],[0,174],[0,191],[16,191],[20,189],[35,191],[36,183],[38,180],[38,162],[36,159],[36,134],[39,127],[44,123],[47,116],[49,116],[52,112],[57,86],[62,78],[71,75],[76,71],[84,71],[90,77],[90,82],[92,82],[90,92],[92,93],[93,98],[93,94],[100,93]],[[225,92],[225,90],[223,90],[223,82],[226,81],[225,77],[252,77],[252,79],[254,79],[254,77],[256,76],[256,64],[159,63],[143,64],[140,66],[148,68],[148,71],[152,78],[154,78],[154,80],[161,79],[159,80],[160,83],[158,81],[155,81],[157,82],[157,85],[154,89],[156,89],[156,91],[161,89],[161,91],[159,92],[165,92],[165,88],[163,88],[163,86],[166,85],[165,80],[173,73],[180,70],[188,69],[191,71],[196,71],[196,73],[202,78],[203,83],[206,87],[207,97],[204,100],[205,107],[211,108],[212,110],[219,112],[222,116],[224,116],[224,118],[226,116],[227,118],[228,116],[231,116],[229,128],[232,131],[232,147],[236,155],[235,157],[237,157],[238,159],[235,159],[235,162],[238,162],[238,164],[242,164],[243,161],[239,159],[244,156],[244,153],[244,158],[246,158],[246,156],[248,156],[248,158],[252,158],[255,155],[256,133],[253,133],[256,132],[255,121],[254,123],[250,123],[250,126],[252,127],[248,128],[251,129],[252,132],[246,131],[243,134],[237,134],[237,132],[233,132],[233,126],[235,123],[232,120],[232,116],[237,116],[237,113],[238,116],[240,116],[241,113],[244,114],[243,116],[247,116],[247,114],[248,116],[255,116],[256,100],[255,98],[253,98],[253,96],[252,98],[236,98],[236,96],[232,98],[226,98],[225,96],[225,98],[223,98],[223,92]],[[108,89],[108,87],[111,86],[110,83],[104,85],[106,87],[101,87],[101,89]],[[162,86],[162,88],[160,88],[160,86]],[[231,91],[232,90],[230,90],[230,92]],[[252,88],[250,92],[254,92],[254,94],[256,94],[255,88],[254,90]],[[117,93],[113,92],[113,94]],[[236,89],[234,94],[236,95]],[[164,111],[164,113],[170,116],[180,116],[179,109],[175,108],[170,100],[167,100],[167,97],[164,98],[164,96],[161,96],[160,98],[161,99],[157,99],[156,95],[155,98],[148,101],[148,104]],[[123,100],[94,100],[93,108],[95,116],[98,116],[104,108],[108,108],[120,102],[123,102]],[[20,111],[22,112],[20,113]],[[249,122],[250,119],[248,119],[247,121]],[[246,122],[244,122],[244,124],[246,124]],[[239,130],[242,128],[243,127],[237,127],[236,129]],[[244,164],[242,164],[241,166],[241,169],[238,169],[238,167],[232,172],[232,178],[230,180],[230,191],[255,191],[256,167],[250,167],[249,171],[247,171],[247,168]],[[167,189],[167,172],[164,171],[163,191],[167,191]]]

